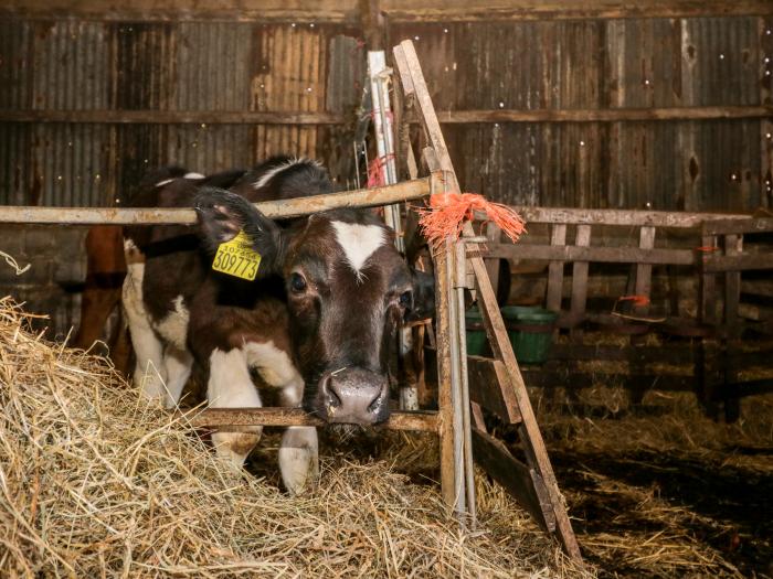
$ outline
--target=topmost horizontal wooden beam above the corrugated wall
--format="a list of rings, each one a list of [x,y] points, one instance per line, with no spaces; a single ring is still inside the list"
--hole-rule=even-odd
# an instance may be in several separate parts
[[[120,8],[118,8],[120,7]],[[232,8],[233,7],[233,8]],[[646,0],[620,2],[594,0],[569,2],[562,0],[459,0],[410,2],[382,0],[385,15],[395,22],[532,22],[555,20],[590,20],[622,18],[706,18],[750,17],[773,13],[767,0],[696,2],[695,0]],[[358,24],[357,2],[353,0],[277,2],[244,0],[239,2],[201,3],[194,0],[171,0],[162,6],[148,0],[119,4],[108,0],[73,2],[67,0],[9,0],[0,9],[0,18],[42,20],[130,21],[130,22],[255,22],[255,23],[348,23]]]

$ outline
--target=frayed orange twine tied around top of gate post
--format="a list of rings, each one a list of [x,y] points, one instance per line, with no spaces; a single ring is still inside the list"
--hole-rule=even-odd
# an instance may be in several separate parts
[[[486,214],[513,242],[526,232],[523,219],[512,208],[501,203],[486,201],[477,193],[436,193],[430,197],[430,207],[419,210],[419,223],[430,245],[437,248],[446,237],[458,238],[465,221],[472,221],[475,212]]]

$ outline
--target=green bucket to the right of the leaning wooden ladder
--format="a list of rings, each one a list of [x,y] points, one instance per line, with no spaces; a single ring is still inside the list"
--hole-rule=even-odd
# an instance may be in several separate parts
[[[505,305],[501,313],[518,362],[544,364],[553,343],[558,314],[542,308],[522,305]]]

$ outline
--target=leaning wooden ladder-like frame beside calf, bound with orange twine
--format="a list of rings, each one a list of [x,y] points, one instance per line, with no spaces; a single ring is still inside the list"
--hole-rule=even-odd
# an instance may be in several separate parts
[[[423,158],[430,171],[442,171],[447,192],[459,192],[456,172],[443,138],[435,107],[413,42],[406,40],[393,49],[394,61],[402,85],[404,107],[416,105],[428,147]],[[413,159],[407,144],[409,165]],[[486,265],[481,257],[483,248],[476,243],[472,224],[464,226],[462,237],[446,239],[444,247],[433,256],[436,279],[437,325],[448,328],[437,336],[438,376],[438,422],[441,435],[441,478],[445,502],[459,510],[465,505],[465,493],[469,496],[472,482],[465,460],[472,461],[472,452],[465,444],[465,437],[472,435],[475,460],[536,518],[546,530],[558,535],[564,551],[574,559],[581,559],[580,548],[566,515],[565,501],[553,473],[548,451],[537,425],[531,403],[512,352],[505,323],[499,312],[495,290],[491,287]],[[494,360],[466,355],[465,321],[463,304],[457,290],[465,285],[463,279],[472,272],[477,300],[483,312],[484,325],[488,335]],[[454,333],[456,332],[456,335]],[[468,374],[469,372],[469,374]],[[458,432],[467,427],[453,415],[454,406],[466,401],[464,388],[467,380],[472,403],[472,425],[469,432]],[[460,384],[455,384],[460,383]],[[451,404],[449,404],[451,403]],[[518,435],[523,447],[526,463],[516,459],[507,447],[486,431],[480,406],[485,406],[517,423]],[[468,412],[469,405],[464,408]],[[467,448],[465,460],[460,460],[459,447]],[[468,485],[465,487],[464,481]],[[464,492],[463,492],[464,490]],[[475,501],[468,500],[467,511],[474,514]]]

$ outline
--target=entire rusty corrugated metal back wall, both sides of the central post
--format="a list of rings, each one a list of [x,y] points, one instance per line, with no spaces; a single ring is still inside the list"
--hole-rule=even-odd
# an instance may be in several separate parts
[[[771,103],[762,18],[392,23],[438,110]],[[354,122],[361,32],[333,23],[0,21],[0,110],[327,111]],[[0,203],[112,205],[148,167],[289,152],[331,167],[347,126],[0,126]],[[467,190],[513,204],[770,206],[760,119],[446,125]]]

